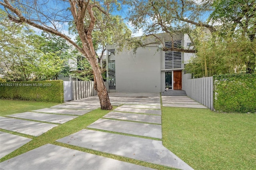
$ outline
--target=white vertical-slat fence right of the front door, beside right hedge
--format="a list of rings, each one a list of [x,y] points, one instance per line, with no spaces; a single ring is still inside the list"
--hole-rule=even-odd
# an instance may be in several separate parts
[[[213,77],[191,79],[191,74],[182,77],[182,89],[191,99],[213,111]]]

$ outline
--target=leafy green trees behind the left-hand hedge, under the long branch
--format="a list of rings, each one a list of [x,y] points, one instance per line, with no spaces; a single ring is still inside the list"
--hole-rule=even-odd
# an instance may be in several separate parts
[[[0,68],[7,81],[56,79],[70,57],[70,47],[62,38],[44,32],[38,36],[4,18],[0,34]]]

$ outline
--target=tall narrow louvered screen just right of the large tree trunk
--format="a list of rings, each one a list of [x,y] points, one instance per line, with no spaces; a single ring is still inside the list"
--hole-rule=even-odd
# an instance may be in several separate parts
[[[108,87],[109,89],[116,89],[115,49],[108,49]]]

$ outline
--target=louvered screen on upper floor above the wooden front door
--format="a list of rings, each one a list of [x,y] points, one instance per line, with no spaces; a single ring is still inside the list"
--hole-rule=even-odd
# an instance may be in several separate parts
[[[165,42],[165,47],[171,48],[172,42]],[[174,47],[180,47],[181,40],[174,41]],[[174,69],[182,67],[181,52],[176,51],[165,51],[164,52],[164,67],[165,69]]]

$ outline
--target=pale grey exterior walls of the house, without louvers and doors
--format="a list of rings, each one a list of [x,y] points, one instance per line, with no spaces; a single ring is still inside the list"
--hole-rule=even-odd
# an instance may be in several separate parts
[[[171,40],[168,34],[161,36],[164,42]],[[174,40],[182,40],[185,48],[187,43],[191,42],[188,35],[184,34],[177,34]],[[154,42],[154,38],[149,38],[147,42]],[[116,49],[116,47],[109,45],[107,49]],[[165,69],[164,51],[159,49],[158,44],[139,47],[136,54],[132,50],[116,51],[116,90],[110,92],[160,93],[165,89],[165,71],[184,70],[184,63],[188,63],[192,55],[192,53],[182,53],[181,68]]]

